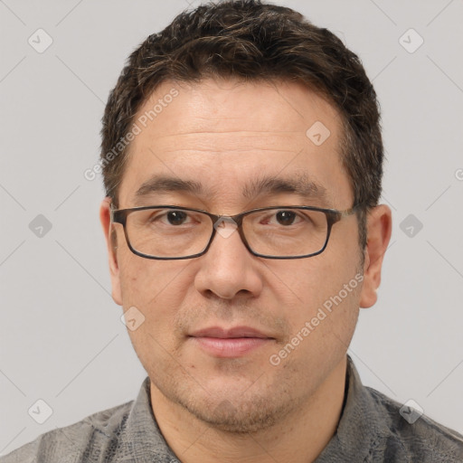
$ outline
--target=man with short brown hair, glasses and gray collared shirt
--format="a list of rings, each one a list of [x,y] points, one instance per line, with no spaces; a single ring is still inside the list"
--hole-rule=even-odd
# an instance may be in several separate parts
[[[148,377],[2,461],[463,461],[346,354],[392,214],[376,96],[332,33],[258,1],[181,14],[130,56],[102,138],[112,296]]]

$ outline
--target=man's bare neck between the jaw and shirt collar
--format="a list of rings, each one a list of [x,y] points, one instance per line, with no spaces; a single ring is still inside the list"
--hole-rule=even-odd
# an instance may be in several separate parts
[[[183,463],[313,462],[335,434],[345,396],[346,357],[297,411],[269,429],[233,434],[213,429],[168,401],[151,383],[159,429]]]

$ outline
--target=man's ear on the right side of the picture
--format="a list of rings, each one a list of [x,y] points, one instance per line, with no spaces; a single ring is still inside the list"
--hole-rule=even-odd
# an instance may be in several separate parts
[[[391,208],[385,204],[374,207],[367,216],[367,243],[360,307],[372,307],[378,299],[376,289],[381,284],[383,258],[391,240],[391,233]]]

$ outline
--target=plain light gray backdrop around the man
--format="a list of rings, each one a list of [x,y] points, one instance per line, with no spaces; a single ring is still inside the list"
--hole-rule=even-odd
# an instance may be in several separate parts
[[[364,383],[463,432],[463,3],[279,4],[358,53],[382,104],[392,241],[349,352]],[[134,399],[146,376],[109,295],[100,178],[83,172],[128,53],[187,6],[0,0],[0,454]],[[28,414],[39,399],[43,424]]]

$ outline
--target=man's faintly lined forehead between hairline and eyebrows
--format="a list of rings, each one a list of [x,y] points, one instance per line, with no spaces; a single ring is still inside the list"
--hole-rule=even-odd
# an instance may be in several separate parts
[[[194,183],[196,193],[203,190],[209,200],[225,203],[234,195],[236,201],[239,195],[249,200],[250,185],[291,178],[301,190],[304,180],[307,191],[323,191],[333,202],[350,201],[339,156],[339,115],[300,84],[166,81],[134,122],[139,133],[129,147],[119,193],[127,207],[138,205],[140,189],[149,190],[160,177],[176,178],[178,185]],[[174,186],[170,182],[164,190],[174,192]],[[267,190],[282,193],[285,187]]]

